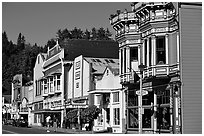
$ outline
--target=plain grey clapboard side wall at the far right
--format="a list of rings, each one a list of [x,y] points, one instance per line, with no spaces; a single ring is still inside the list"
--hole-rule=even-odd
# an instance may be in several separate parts
[[[184,134],[202,133],[202,9],[181,6],[181,80]]]

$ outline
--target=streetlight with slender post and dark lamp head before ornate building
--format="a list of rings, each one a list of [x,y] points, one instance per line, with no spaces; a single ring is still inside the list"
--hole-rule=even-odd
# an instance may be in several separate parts
[[[142,134],[142,95],[143,95],[143,90],[142,90],[142,74],[144,69],[146,68],[145,65],[143,65],[143,63],[141,63],[138,66],[139,70],[140,70],[140,93],[138,95],[138,122],[139,122],[139,134]]]

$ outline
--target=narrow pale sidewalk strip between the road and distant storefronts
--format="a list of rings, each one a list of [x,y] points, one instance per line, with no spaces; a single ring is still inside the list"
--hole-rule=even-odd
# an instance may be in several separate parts
[[[44,129],[46,131],[46,127],[41,127],[41,126],[31,126],[33,128],[37,129]],[[50,131],[54,131],[53,127],[49,128]],[[85,131],[85,130],[78,130],[78,129],[65,129],[65,128],[57,128],[58,132],[64,132],[68,134],[93,134],[94,132],[92,131]]]

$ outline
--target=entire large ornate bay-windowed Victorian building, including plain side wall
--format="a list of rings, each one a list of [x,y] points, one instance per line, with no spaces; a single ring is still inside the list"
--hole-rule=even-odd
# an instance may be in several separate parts
[[[127,132],[138,131],[142,122],[143,132],[201,133],[202,5],[140,2],[131,8],[110,17],[119,42]]]

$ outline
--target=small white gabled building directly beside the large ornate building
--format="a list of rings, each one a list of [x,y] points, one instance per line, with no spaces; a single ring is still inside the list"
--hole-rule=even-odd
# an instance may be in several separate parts
[[[112,60],[113,61],[113,60]],[[100,114],[94,121],[94,131],[125,132],[125,92],[122,90],[119,77],[119,61],[104,66],[102,75],[95,78],[94,105]]]

